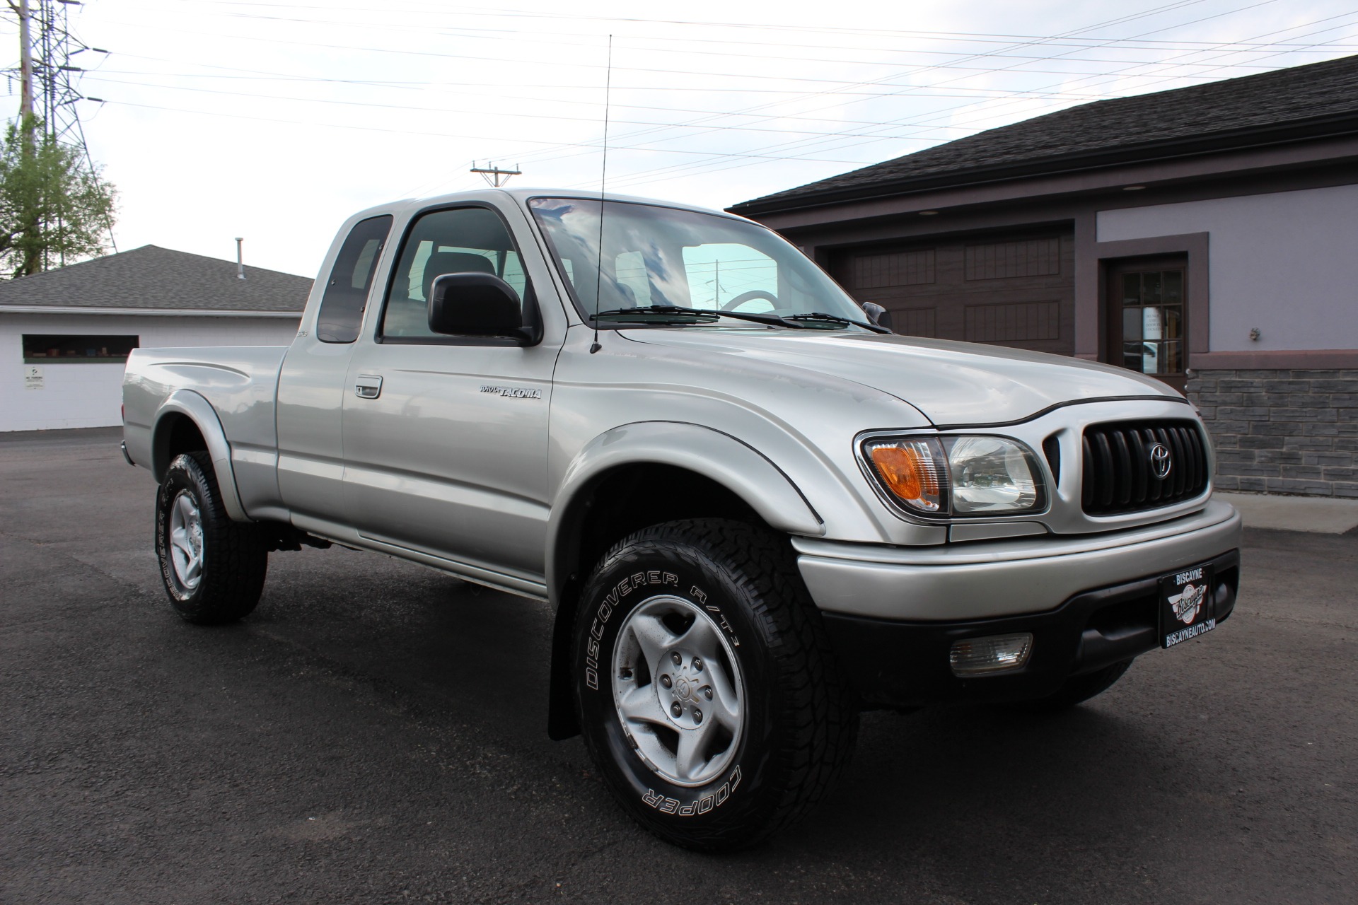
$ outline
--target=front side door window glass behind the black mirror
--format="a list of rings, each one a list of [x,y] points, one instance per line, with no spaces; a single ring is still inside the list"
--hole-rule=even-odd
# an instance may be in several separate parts
[[[528,285],[509,229],[488,208],[433,210],[416,220],[397,261],[382,316],[382,336],[441,338],[429,330],[433,281],[449,273],[489,273],[519,293]]]

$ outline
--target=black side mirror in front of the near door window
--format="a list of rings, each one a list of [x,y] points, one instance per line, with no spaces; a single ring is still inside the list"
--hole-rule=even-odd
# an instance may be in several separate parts
[[[519,293],[489,273],[445,273],[429,290],[429,330],[449,336],[500,336],[520,346],[542,342],[542,317],[530,290]]]

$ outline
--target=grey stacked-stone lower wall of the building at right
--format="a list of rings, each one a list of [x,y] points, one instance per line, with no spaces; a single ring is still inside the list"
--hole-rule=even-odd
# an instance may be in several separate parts
[[[1358,369],[1199,370],[1218,490],[1358,498]]]

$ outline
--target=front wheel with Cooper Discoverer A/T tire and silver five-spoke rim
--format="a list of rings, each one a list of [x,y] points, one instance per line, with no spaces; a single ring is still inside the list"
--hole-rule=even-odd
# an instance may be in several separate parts
[[[576,620],[580,726],[644,826],[698,849],[755,844],[847,763],[857,712],[785,544],[676,521],[617,544]]]

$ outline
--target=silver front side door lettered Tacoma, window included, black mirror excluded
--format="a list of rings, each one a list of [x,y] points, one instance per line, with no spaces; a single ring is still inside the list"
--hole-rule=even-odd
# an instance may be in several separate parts
[[[535,583],[547,526],[547,412],[562,336],[536,346],[432,332],[435,277],[494,273],[532,286],[498,212],[420,214],[398,251],[376,341],[344,402],[345,502],[367,539]],[[463,570],[466,571],[466,570]]]

